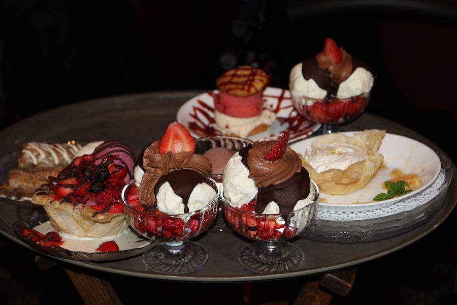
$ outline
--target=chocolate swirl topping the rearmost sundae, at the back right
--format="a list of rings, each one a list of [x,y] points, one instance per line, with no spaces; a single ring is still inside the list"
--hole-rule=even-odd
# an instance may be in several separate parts
[[[329,56],[320,52],[316,55],[317,63],[321,69],[327,69],[330,72],[330,78],[333,82],[341,83],[345,81],[352,73],[352,57],[343,48],[340,48],[342,60],[341,63],[335,64]]]

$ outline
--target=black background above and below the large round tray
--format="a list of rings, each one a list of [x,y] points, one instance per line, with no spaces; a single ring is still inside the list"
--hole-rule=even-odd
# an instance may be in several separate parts
[[[455,160],[455,4],[2,0],[0,127],[83,100],[156,90],[213,89],[221,72],[243,64],[264,69],[272,76],[271,86],[287,88],[293,65],[314,56],[325,38],[332,37],[365,61],[376,76],[366,111],[418,131]],[[430,236],[358,268],[352,298],[336,302],[382,303],[394,296],[399,303],[455,301],[455,219],[454,212]],[[0,282],[11,285],[3,288],[7,300],[81,302],[61,268],[37,270],[33,252],[4,237],[0,240],[5,249]],[[57,289],[45,292],[40,283],[44,276],[64,280]],[[140,287],[152,282],[160,289],[173,290],[176,285],[184,289],[177,283],[114,279],[120,290],[124,281]],[[293,299],[303,281],[281,281],[281,289]],[[277,284],[254,285],[253,303],[278,300],[258,288],[270,285],[270,291]],[[22,286],[30,293],[23,293]],[[240,285],[211,287],[219,295],[230,292],[241,302]],[[119,295],[126,297],[125,292]]]

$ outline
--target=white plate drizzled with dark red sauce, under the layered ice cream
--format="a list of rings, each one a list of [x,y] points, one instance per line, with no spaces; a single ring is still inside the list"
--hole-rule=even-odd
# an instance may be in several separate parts
[[[217,90],[196,96],[178,110],[177,121],[195,138],[221,135],[214,123],[213,95]],[[293,107],[289,90],[267,87],[263,94],[268,109],[276,113],[276,121],[262,133],[247,137],[249,140],[276,140],[284,131],[291,131],[289,141],[304,139],[316,132],[320,124],[301,116]]]

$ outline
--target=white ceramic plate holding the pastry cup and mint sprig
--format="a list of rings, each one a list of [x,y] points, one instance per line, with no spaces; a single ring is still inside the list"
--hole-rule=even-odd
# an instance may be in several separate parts
[[[353,132],[344,134],[352,135]],[[290,147],[303,156],[307,149],[311,150],[313,140],[313,138],[306,139],[292,144]],[[435,151],[429,146],[407,137],[386,133],[379,147],[379,153],[384,156],[384,162],[376,176],[365,188],[347,195],[330,195],[321,192],[319,205],[325,209],[341,209],[342,206],[354,207],[357,210],[364,207],[367,210],[380,208],[425,190],[435,181],[441,169],[441,162]],[[422,180],[421,186],[402,196],[374,201],[373,198],[377,194],[386,192],[382,189],[383,182],[393,178],[397,173],[418,174]]]

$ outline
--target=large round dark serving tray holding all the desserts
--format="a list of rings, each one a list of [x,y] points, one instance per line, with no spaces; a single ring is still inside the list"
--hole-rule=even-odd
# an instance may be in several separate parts
[[[151,143],[151,139],[160,138],[161,131],[165,130],[170,122],[175,120],[176,112],[182,107],[183,103],[201,93],[201,91],[147,93],[110,97],[53,109],[22,120],[0,131],[0,156],[4,156],[8,151],[20,147],[24,142],[41,141],[43,139],[63,142],[69,139],[82,142],[116,139],[128,144],[138,156],[144,147]],[[39,130],[36,128],[37,121],[40,123]],[[70,126],[69,121],[72,122]],[[60,128],[62,126],[69,127]],[[341,129],[346,131],[365,130],[368,128],[386,130],[389,133],[416,139],[431,147],[437,153],[442,161],[442,168],[445,169],[446,187],[441,188],[440,195],[430,202],[430,206],[436,211],[428,215],[417,227],[408,229],[401,234],[394,234],[395,236],[380,234],[381,236],[376,236],[375,240],[368,245],[360,242],[366,240],[363,238],[353,238],[354,242],[344,244],[333,242],[334,240],[331,240],[330,237],[325,237],[322,240],[323,242],[314,240],[310,236],[300,238],[304,232],[313,228],[313,224],[317,224],[320,221],[315,219],[301,234],[287,240],[287,242],[292,243],[305,254],[306,262],[293,270],[270,273],[246,272],[243,268],[240,268],[238,255],[243,248],[255,241],[238,233],[219,234],[208,230],[192,239],[192,241],[200,243],[207,249],[209,258],[206,266],[198,272],[186,275],[170,275],[151,271],[143,263],[141,254],[124,259],[104,260],[103,262],[76,260],[54,254],[46,254],[40,249],[32,248],[32,245],[20,239],[15,233],[15,222],[21,221],[23,216],[34,212],[37,207],[15,204],[4,198],[0,198],[0,232],[27,249],[33,249],[40,254],[55,257],[64,266],[76,265],[83,267],[82,270],[88,268],[102,273],[116,273],[118,275],[155,280],[202,283],[265,281],[306,277],[353,267],[398,251],[431,233],[449,216],[457,201],[457,182],[451,177],[451,172],[455,169],[455,166],[433,142],[400,124],[370,113],[364,113],[352,123],[341,126]],[[4,159],[0,158],[0,160]],[[14,165],[0,162],[0,169],[2,167],[12,168],[12,166]],[[7,172],[3,171],[1,173],[0,179],[3,182],[7,178]],[[422,206],[425,207],[426,205]],[[41,208],[39,207],[38,209]],[[338,213],[340,212],[338,211]],[[400,217],[410,220],[410,213],[410,211],[405,211],[403,214],[395,214],[391,221],[395,224],[397,222],[396,218]],[[319,214],[317,217],[319,217]],[[357,224],[358,228],[362,230],[362,235],[369,235],[366,232],[369,231],[373,222],[373,220],[363,220],[360,221],[360,225]],[[348,223],[352,226],[351,222]],[[332,224],[332,226],[327,227],[333,228],[338,225],[341,227],[340,232],[345,232],[343,222],[332,221]],[[353,225],[352,227],[353,232],[356,232],[357,226]],[[335,228],[336,230],[338,228]],[[338,236],[338,234],[335,234],[335,236]],[[344,238],[352,237],[344,236]],[[152,247],[155,243],[149,243],[149,245]],[[143,250],[148,247],[146,246]]]

